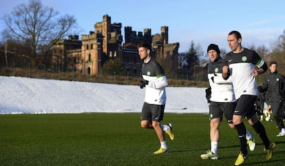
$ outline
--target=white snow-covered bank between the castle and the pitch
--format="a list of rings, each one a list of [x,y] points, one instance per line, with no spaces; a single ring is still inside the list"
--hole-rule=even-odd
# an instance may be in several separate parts
[[[165,112],[208,113],[205,88],[167,87]],[[0,114],[140,112],[139,86],[0,76]]]

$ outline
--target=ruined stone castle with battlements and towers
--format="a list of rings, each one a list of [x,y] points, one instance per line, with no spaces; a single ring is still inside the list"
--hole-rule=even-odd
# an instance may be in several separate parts
[[[97,75],[103,64],[110,59],[119,58],[129,75],[139,75],[142,61],[137,46],[147,42],[152,45],[151,55],[162,64],[167,74],[178,68],[179,43],[168,43],[168,27],[161,27],[161,33],[151,35],[151,29],[135,32],[125,27],[125,43],[121,34],[121,23],[111,23],[111,17],[103,16],[103,21],[94,25],[95,31],[81,36],[68,36],[52,46],[53,66],[61,71],[74,71],[87,75]],[[123,45],[122,45],[123,43]]]

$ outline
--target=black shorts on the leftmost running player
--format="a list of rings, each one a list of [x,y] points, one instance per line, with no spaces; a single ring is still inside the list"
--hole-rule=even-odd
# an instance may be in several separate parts
[[[144,103],[142,106],[142,121],[162,121],[165,114],[165,105]]]

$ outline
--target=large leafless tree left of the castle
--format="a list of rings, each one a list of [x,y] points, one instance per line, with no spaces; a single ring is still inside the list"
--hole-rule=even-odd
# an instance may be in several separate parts
[[[76,28],[74,16],[60,16],[53,8],[43,6],[40,0],[17,5],[3,20],[7,26],[2,32],[5,40],[20,40],[29,45],[30,55],[26,56],[32,65],[36,65],[36,59],[41,63],[52,44]],[[43,55],[40,56],[39,52]]]

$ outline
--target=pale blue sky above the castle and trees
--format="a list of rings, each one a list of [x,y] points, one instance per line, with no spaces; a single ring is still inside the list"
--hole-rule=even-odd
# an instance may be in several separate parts
[[[10,0],[0,5],[0,16],[10,14],[13,8],[28,0]],[[94,24],[111,16],[112,23],[122,23],[136,32],[151,28],[151,34],[160,34],[161,26],[169,27],[169,43],[180,43],[179,52],[189,49],[191,40],[203,51],[211,43],[229,51],[226,37],[232,30],[242,34],[242,45],[269,49],[285,30],[285,1],[189,1],[189,0],[42,0],[60,14],[73,15],[83,29],[79,34],[94,31]],[[3,21],[0,22],[0,30]],[[123,34],[125,39],[125,34]]]

